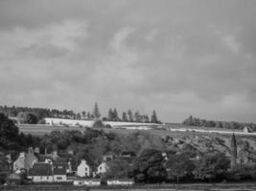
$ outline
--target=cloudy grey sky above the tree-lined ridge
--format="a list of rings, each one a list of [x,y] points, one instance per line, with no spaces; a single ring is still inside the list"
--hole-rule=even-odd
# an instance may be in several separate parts
[[[0,0],[0,104],[256,122],[255,0]]]

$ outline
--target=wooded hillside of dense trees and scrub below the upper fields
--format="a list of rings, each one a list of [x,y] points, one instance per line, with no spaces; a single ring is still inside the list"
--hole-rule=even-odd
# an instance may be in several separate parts
[[[41,153],[45,148],[51,151],[57,147],[61,159],[71,159],[75,164],[86,159],[94,169],[105,155],[111,155],[113,160],[107,161],[109,169],[102,179],[133,178],[145,183],[256,179],[255,138],[160,137],[142,131],[117,134],[97,125],[83,133],[53,131],[37,138],[19,134],[12,120],[0,114],[0,147],[4,153],[15,150],[16,154],[29,146],[39,147]],[[237,151],[232,152],[234,147]],[[124,152],[135,156],[125,159]],[[236,155],[237,164],[230,168],[232,155]],[[1,164],[5,164],[4,157],[0,157]]]

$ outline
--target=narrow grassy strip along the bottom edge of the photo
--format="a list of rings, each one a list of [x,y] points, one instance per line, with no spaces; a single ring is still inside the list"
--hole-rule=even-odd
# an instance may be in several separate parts
[[[132,190],[132,191],[255,191],[256,183],[217,183],[217,184],[161,184],[161,185],[134,185],[131,187],[126,186],[100,186],[100,187],[75,187],[72,185],[25,185],[16,187],[0,187],[0,190],[9,191],[81,191],[81,190]]]

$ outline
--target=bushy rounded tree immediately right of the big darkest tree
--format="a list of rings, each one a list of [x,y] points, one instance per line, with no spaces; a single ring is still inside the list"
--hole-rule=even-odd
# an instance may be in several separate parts
[[[166,167],[168,179],[175,178],[178,183],[180,179],[191,176],[195,168],[187,153],[169,156]]]

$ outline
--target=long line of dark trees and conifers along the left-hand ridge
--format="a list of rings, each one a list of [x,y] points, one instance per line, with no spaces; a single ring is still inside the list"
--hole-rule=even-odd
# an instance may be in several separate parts
[[[8,107],[0,106],[0,113],[5,114],[7,117],[11,117],[15,122],[26,124],[44,124],[45,117],[56,118],[69,118],[69,119],[100,119],[102,117],[98,103],[94,104],[92,112],[82,111],[81,113],[75,113],[72,110],[57,110],[57,109],[45,109],[45,108],[29,108],[29,107]],[[119,117],[117,109],[109,109],[107,117],[102,117],[103,120],[108,121],[127,121],[127,122],[155,122],[160,123],[156,117],[156,112],[153,111],[151,120],[148,115],[141,115],[139,111],[136,111],[134,115],[131,110],[128,113],[123,112],[122,117]]]

